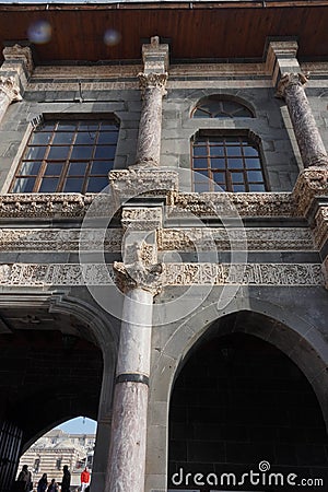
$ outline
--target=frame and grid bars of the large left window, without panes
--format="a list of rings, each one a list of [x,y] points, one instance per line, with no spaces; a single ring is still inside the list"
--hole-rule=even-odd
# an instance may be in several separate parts
[[[90,125],[96,125],[97,129],[95,130],[82,130],[80,129],[80,125],[83,125],[83,122],[89,122]],[[75,128],[71,129],[71,130],[61,130],[60,131],[60,125],[70,125],[70,124],[75,124]],[[45,130],[44,133],[49,134],[49,140],[46,142],[36,142],[34,143],[34,136],[37,134],[37,132],[39,131],[39,134],[42,134],[42,126],[46,126],[46,125],[52,125],[52,129],[49,129],[48,131]],[[110,125],[110,126],[116,126],[116,130],[114,129],[106,129],[106,128],[102,128],[103,125]],[[97,191],[92,191],[92,190],[87,190],[87,186],[89,186],[89,179],[90,178],[102,178],[104,179],[104,177],[108,175],[108,172],[110,169],[113,169],[115,167],[115,157],[116,157],[116,151],[117,151],[117,145],[118,145],[118,140],[119,140],[119,130],[120,130],[120,121],[119,119],[116,117],[116,115],[114,114],[104,114],[104,113],[85,113],[85,114],[81,114],[81,113],[77,113],[77,114],[47,114],[47,115],[39,115],[37,118],[35,118],[32,121],[32,127],[31,127],[31,131],[28,133],[28,137],[26,138],[26,142],[24,145],[24,149],[22,151],[21,157],[19,160],[17,165],[15,166],[15,171],[13,174],[13,177],[11,179],[10,186],[9,186],[9,194],[13,194],[13,195],[17,195],[17,194],[89,194],[89,192],[98,192]],[[95,132],[95,140],[94,142],[90,142],[90,144],[86,143],[78,143],[77,144],[77,139],[79,138],[79,134],[83,134],[83,133],[90,133],[91,131]],[[113,133],[117,133],[116,134],[116,139],[114,139],[114,142],[102,142],[101,144],[98,144],[98,138],[103,132],[113,132]],[[54,145],[54,140],[56,139],[56,136],[61,134],[63,136],[65,133],[71,133],[72,134],[72,139],[70,142],[66,142],[66,143],[58,143],[56,142]],[[106,156],[106,157],[102,157],[102,156],[97,156],[96,152],[97,149],[99,150],[101,147],[110,147],[114,149],[114,154],[113,156]],[[82,149],[82,148],[87,148],[91,149],[91,154],[87,156],[81,156],[81,157],[73,157],[73,152],[74,149]],[[37,156],[35,157],[30,157],[28,159],[28,149],[45,149],[45,153],[43,154],[43,156],[40,159],[38,159]],[[66,148],[68,149],[67,154],[65,157],[60,159],[58,156],[55,157],[49,157],[49,154],[51,153],[51,150],[54,149],[60,149],[60,148]],[[109,166],[109,169],[104,172],[104,173],[99,173],[99,172],[93,172],[92,166],[94,164],[97,163],[108,163],[112,162],[112,165]],[[26,166],[28,166],[28,163],[31,163],[31,166],[33,166],[33,163],[36,165],[37,171],[33,173],[33,169],[28,169],[28,173],[22,173],[22,168],[24,166],[24,164]],[[70,171],[70,166],[71,164],[78,164],[80,163],[81,166],[81,174],[78,174],[75,172],[71,174],[71,176],[69,175],[69,171]],[[52,168],[56,168],[56,166],[58,166],[58,173],[57,174],[47,174],[47,168],[48,165],[52,164]],[[84,166],[84,168],[83,168]],[[77,167],[77,166],[75,166]],[[96,167],[96,165],[95,165]],[[50,169],[50,166],[49,166]],[[32,173],[31,173],[32,171]],[[14,187],[17,185],[17,179],[20,178],[34,178],[34,184],[32,186],[32,190],[31,191],[20,191],[20,190],[14,190]],[[43,185],[43,183],[46,185],[45,179],[57,179],[57,187],[56,190],[40,190],[40,187]],[[70,191],[70,190],[65,190],[65,186],[69,186],[69,180],[70,179],[80,179],[80,181],[82,183],[81,185],[81,190],[79,191]],[[72,183],[72,181],[71,181]]]

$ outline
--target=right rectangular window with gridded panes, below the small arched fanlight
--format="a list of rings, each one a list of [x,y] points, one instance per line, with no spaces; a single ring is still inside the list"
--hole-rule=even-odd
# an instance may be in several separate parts
[[[259,143],[250,132],[201,131],[192,141],[195,191],[267,191]],[[218,185],[218,186],[215,186]]]

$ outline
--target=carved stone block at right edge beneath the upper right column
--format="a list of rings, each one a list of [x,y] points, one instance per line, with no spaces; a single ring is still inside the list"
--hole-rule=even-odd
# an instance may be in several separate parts
[[[293,198],[300,215],[306,216],[316,196],[328,194],[328,168],[304,169],[293,189]]]

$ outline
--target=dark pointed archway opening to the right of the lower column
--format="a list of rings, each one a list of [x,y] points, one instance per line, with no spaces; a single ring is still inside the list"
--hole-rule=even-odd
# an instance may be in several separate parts
[[[288,477],[324,490],[328,440],[304,374],[255,336],[209,331],[174,385],[168,490],[295,490]]]

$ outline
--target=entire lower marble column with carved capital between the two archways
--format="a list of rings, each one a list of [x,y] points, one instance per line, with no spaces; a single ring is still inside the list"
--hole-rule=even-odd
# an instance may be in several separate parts
[[[153,296],[163,269],[154,258],[155,246],[141,241],[126,246],[125,262],[114,263],[125,301],[105,492],[144,491]]]

